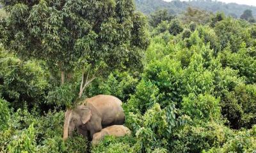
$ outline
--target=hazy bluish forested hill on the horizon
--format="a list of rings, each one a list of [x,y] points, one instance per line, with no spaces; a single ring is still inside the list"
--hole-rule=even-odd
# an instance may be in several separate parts
[[[170,1],[166,2],[163,0],[135,0],[136,8],[145,14],[150,14],[154,11],[166,9],[170,13],[178,14],[186,10],[189,6],[199,8],[201,10],[212,11],[223,11],[226,15],[232,15],[233,17],[240,17],[244,10],[252,10],[253,16],[256,16],[256,7],[248,6],[244,4],[236,3],[222,3],[213,0],[191,0],[191,1]]]

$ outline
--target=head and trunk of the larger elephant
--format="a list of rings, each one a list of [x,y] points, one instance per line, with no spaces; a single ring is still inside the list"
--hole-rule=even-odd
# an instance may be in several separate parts
[[[63,128],[63,139],[67,140],[72,135],[72,131],[79,126],[86,124],[92,117],[92,112],[88,106],[80,105],[74,110],[65,112],[65,122]]]

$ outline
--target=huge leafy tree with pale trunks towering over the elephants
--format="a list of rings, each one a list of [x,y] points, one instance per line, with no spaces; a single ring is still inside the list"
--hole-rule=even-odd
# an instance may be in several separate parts
[[[81,82],[78,99],[95,78],[111,69],[141,67],[148,45],[146,19],[134,12],[132,0],[1,3],[8,13],[1,22],[4,47],[58,69],[62,85],[71,82],[76,71]],[[68,108],[75,106],[72,102],[66,103]]]

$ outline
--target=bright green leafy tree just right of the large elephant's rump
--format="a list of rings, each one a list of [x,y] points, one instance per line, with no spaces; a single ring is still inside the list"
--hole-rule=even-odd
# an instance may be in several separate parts
[[[181,101],[180,70],[179,62],[170,60],[168,57],[162,61],[150,62],[145,68],[136,93],[129,99],[130,106],[144,113],[154,103],[160,103],[161,106],[166,107],[172,101]]]

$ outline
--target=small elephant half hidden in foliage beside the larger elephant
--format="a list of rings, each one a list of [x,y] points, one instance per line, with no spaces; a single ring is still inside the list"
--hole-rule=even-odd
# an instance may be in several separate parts
[[[93,144],[99,143],[99,140],[102,140],[106,135],[120,137],[125,135],[131,135],[131,131],[125,126],[121,126],[121,125],[109,126],[107,128],[102,129],[100,132],[95,133],[93,135],[92,143]]]

